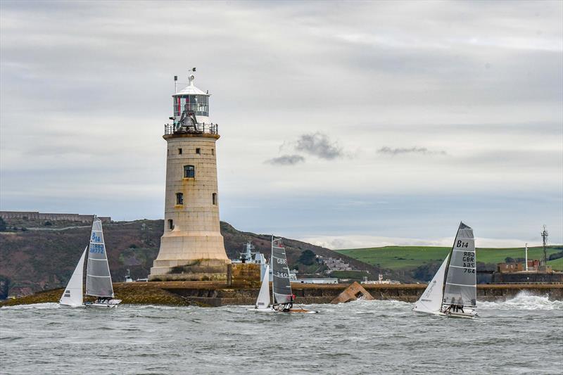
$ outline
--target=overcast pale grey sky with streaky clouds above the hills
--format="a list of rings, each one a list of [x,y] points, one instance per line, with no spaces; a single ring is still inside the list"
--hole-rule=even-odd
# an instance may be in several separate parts
[[[163,218],[193,67],[237,229],[563,243],[561,1],[2,0],[0,209]]]

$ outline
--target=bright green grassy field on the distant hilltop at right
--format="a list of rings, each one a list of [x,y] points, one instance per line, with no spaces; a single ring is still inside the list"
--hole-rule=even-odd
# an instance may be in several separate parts
[[[563,246],[549,246],[548,257],[559,253]],[[433,246],[385,246],[383,248],[359,248],[347,250],[335,250],[343,255],[348,255],[370,265],[379,265],[387,269],[413,269],[425,263],[442,262],[450,251],[450,248],[438,248]],[[477,248],[477,262],[500,263],[505,258],[524,258],[524,248]],[[528,259],[541,259],[543,248],[529,248]],[[548,261],[553,269],[563,270],[563,258]]]

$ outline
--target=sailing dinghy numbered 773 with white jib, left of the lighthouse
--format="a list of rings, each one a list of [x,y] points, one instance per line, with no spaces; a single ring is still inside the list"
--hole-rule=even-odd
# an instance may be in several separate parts
[[[85,302],[82,295],[82,272],[84,270],[84,258],[88,250],[88,262],[86,268],[86,295],[97,297],[94,302]],[[103,231],[101,220],[94,216],[90,234],[90,244],[84,249],[82,257],[76,266],[75,272],[68,281],[68,286],[59,303],[67,306],[86,307],[116,307],[121,300],[113,299],[113,285],[111,284],[110,267],[106,255],[106,245],[103,242]]]

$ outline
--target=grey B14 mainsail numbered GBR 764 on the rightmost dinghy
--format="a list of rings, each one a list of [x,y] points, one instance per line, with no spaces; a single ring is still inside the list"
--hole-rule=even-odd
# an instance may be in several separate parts
[[[473,229],[461,223],[446,270],[443,305],[476,307],[477,279]]]

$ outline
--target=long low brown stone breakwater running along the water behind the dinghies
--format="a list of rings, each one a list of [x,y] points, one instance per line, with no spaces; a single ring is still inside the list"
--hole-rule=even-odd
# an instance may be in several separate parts
[[[298,303],[330,303],[350,284],[292,284]],[[425,284],[363,285],[377,300],[400,300],[414,303],[426,288]],[[253,305],[259,288],[254,285],[232,285],[213,281],[151,281],[114,283],[116,298],[135,305],[224,306]],[[504,301],[521,291],[546,295],[550,300],[563,300],[563,284],[482,284],[477,286],[477,300]],[[25,297],[6,300],[0,305],[25,305],[58,302],[63,289],[42,291]]]

